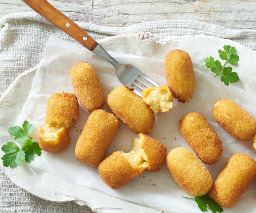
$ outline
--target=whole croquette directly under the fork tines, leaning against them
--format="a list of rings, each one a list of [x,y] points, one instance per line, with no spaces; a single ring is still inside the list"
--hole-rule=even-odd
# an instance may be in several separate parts
[[[107,105],[134,132],[148,134],[153,130],[153,111],[132,89],[125,86],[115,87],[107,96]]]

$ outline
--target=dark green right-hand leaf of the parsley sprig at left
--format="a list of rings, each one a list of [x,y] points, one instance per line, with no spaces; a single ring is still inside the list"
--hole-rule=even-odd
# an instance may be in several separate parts
[[[35,154],[41,155],[41,148],[37,142],[32,142],[31,140],[27,140],[27,142],[22,146],[22,150],[25,152],[25,161],[29,162],[34,160]]]

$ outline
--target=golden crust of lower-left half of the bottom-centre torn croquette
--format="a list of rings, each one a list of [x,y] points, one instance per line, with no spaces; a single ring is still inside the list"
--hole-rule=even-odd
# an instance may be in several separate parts
[[[132,167],[129,161],[114,152],[104,159],[98,167],[102,180],[112,189],[118,189],[141,174],[145,167]]]

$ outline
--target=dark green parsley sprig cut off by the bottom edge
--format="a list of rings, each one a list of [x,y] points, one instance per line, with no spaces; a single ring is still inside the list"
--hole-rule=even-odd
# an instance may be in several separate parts
[[[223,209],[221,208],[221,206],[218,203],[216,203],[212,198],[210,198],[208,193],[205,194],[205,195],[202,195],[202,196],[195,196],[195,198],[190,198],[190,197],[184,197],[184,198],[189,199],[189,200],[195,200],[196,203],[198,204],[198,208],[202,212],[207,211],[207,205],[206,204],[208,204],[210,210],[213,213],[223,212]]]

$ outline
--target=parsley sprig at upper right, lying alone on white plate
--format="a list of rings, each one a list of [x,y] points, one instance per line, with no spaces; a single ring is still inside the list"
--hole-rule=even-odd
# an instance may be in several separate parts
[[[238,82],[239,77],[237,72],[232,72],[232,67],[225,67],[227,63],[232,65],[237,65],[239,61],[239,56],[235,55],[236,48],[231,47],[230,45],[224,45],[223,50],[218,50],[219,56],[222,60],[226,60],[222,66],[219,60],[214,60],[213,57],[205,58],[205,65],[207,68],[211,68],[212,72],[215,73],[215,76],[221,76],[221,82],[224,82],[225,85],[229,83]]]

